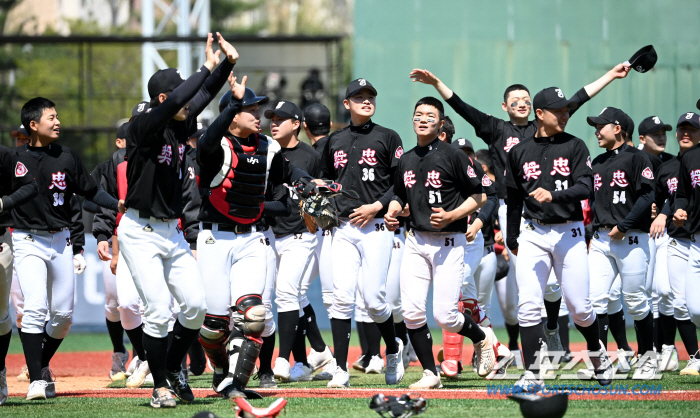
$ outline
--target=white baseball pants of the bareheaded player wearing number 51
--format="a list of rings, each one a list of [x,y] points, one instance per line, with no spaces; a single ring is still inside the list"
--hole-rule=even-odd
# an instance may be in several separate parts
[[[401,263],[401,301],[409,329],[427,323],[426,305],[433,286],[433,316],[440,328],[458,332],[464,316],[457,309],[464,277],[467,239],[461,233],[409,232]]]

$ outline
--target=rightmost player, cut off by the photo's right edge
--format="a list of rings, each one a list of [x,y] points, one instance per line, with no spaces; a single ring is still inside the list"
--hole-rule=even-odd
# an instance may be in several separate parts
[[[692,158],[697,158],[700,115],[695,112],[682,114],[676,124],[676,139],[680,148],[678,157],[664,163],[659,172],[658,181],[661,182],[663,178],[666,183],[657,187],[660,194],[657,202],[664,196],[668,196],[668,201],[654,220],[651,234],[654,236],[663,233],[663,226],[666,223],[669,235],[667,269],[673,300],[673,316],[683,345],[690,355],[688,364],[680,374],[698,376],[700,375],[697,339],[698,289],[692,282],[697,278],[694,266],[697,263],[698,254],[694,253],[693,231],[697,228],[698,221],[697,209],[687,211],[685,208],[693,208],[694,204],[697,205],[697,198],[693,192],[700,172],[696,170],[697,163],[694,163]],[[670,221],[671,213],[674,213],[673,222]],[[671,342],[668,335],[670,332],[666,334],[667,332],[668,330],[664,329],[666,343]]]

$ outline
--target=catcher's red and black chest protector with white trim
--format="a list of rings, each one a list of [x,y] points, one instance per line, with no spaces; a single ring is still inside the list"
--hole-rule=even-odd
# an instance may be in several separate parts
[[[239,224],[251,224],[262,215],[267,175],[280,146],[264,135],[257,136],[254,147],[236,140],[221,139],[224,159],[209,184],[209,201],[224,216]]]

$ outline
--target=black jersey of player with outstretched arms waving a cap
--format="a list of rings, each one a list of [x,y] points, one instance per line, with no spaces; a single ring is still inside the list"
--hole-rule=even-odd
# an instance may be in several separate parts
[[[571,100],[577,102],[579,105],[576,110],[590,99],[585,89],[580,89],[571,98]],[[535,135],[535,132],[537,132],[537,122],[531,120],[525,125],[513,125],[510,121],[487,115],[470,106],[462,101],[462,99],[457,96],[457,93],[454,93],[452,97],[447,100],[447,104],[474,127],[476,136],[481,138],[489,147],[489,155],[493,162],[493,172],[496,175],[498,197],[499,199],[505,199],[507,197],[506,186],[503,180],[506,167],[508,167],[508,152],[516,144],[525,140],[525,138]],[[569,113],[573,115],[576,110],[572,110]]]

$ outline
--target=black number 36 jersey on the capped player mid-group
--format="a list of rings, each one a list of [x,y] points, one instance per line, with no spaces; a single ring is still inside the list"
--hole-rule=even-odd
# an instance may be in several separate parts
[[[384,207],[375,218],[384,217],[402,155],[399,134],[372,121],[333,132],[321,155],[323,174],[359,195],[357,200],[336,196],[338,216],[348,218],[354,209],[379,201]]]

